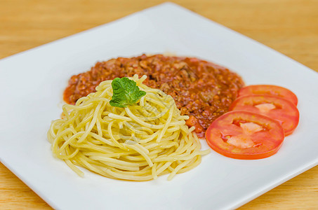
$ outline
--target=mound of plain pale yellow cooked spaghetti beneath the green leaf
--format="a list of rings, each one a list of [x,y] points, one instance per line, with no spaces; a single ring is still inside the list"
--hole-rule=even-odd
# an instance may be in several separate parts
[[[163,174],[187,172],[201,162],[201,144],[185,125],[173,98],[161,90],[143,85],[146,76],[135,80],[146,92],[138,104],[120,108],[110,106],[112,80],[97,92],[65,104],[62,119],[48,131],[55,157],[77,172],[84,167],[112,179],[146,181]]]

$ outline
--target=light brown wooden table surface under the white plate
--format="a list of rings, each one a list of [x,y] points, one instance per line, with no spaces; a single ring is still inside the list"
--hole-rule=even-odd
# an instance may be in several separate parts
[[[164,1],[0,1],[0,58],[117,20],[162,2]],[[274,48],[314,71],[318,70],[317,0],[173,2]],[[50,208],[0,164],[0,209]],[[273,208],[317,209],[318,166],[240,209]]]

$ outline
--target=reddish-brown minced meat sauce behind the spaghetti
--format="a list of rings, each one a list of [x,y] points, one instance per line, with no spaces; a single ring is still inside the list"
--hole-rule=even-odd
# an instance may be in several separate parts
[[[236,73],[211,62],[194,57],[141,55],[97,62],[91,71],[72,76],[64,100],[75,104],[80,97],[95,92],[103,80],[134,74],[147,75],[145,85],[170,94],[181,114],[190,116],[186,124],[195,126],[201,138],[213,120],[227,112],[238,90],[244,86]]]

